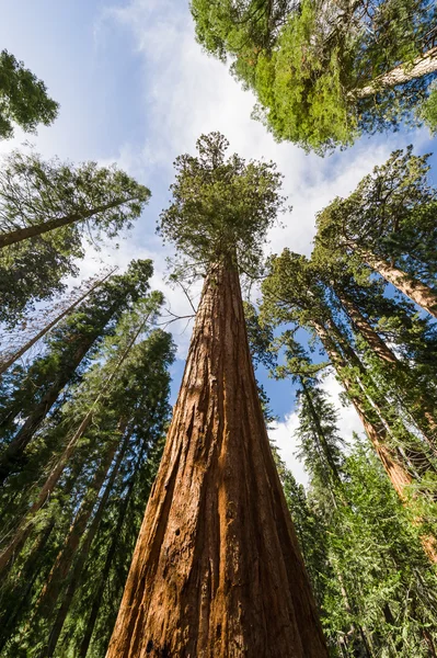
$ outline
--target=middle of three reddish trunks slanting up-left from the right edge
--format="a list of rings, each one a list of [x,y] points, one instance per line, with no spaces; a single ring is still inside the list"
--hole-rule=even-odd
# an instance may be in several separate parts
[[[335,291],[344,310],[348,315],[353,325],[355,325],[358,332],[367,341],[369,347],[372,349],[375,354],[381,359],[384,363],[396,368],[398,375],[402,377],[402,373],[405,372],[404,364],[401,363],[398,356],[392,350],[384,343],[384,341],[375,331],[370,322],[364,317],[359,308],[341,291]],[[400,377],[398,376],[398,379]],[[406,374],[406,378],[410,376]],[[435,419],[435,401],[422,390],[416,390],[414,383],[410,386],[409,383],[404,382],[400,384],[400,390],[406,399],[410,401],[409,411],[417,424],[419,430],[423,432],[428,445],[436,450],[437,439],[437,421]],[[425,420],[425,422],[424,422]]]

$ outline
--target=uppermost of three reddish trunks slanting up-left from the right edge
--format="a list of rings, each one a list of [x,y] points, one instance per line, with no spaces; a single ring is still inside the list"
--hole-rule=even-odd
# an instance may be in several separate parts
[[[414,279],[406,272],[399,270],[383,258],[358,248],[356,245],[349,245],[354,251],[386,281],[394,285],[412,302],[421,306],[424,310],[437,318],[437,293],[422,281]]]

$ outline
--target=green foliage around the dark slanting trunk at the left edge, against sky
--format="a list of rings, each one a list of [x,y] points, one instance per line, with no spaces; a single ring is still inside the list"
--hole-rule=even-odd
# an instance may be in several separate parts
[[[16,229],[71,219],[49,232],[0,249],[2,321],[14,322],[32,304],[62,291],[77,273],[85,240],[95,246],[116,237],[139,217],[150,196],[143,185],[114,167],[74,167],[37,154],[12,151],[0,169],[1,236]]]

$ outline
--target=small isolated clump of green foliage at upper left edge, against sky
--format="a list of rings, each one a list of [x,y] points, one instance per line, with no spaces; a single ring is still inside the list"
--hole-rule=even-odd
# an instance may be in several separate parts
[[[47,95],[46,86],[8,50],[0,53],[0,139],[13,137],[13,124],[35,133],[50,125],[59,105]]]

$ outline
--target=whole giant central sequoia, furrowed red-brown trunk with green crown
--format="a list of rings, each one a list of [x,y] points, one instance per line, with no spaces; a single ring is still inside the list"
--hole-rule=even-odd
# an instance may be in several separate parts
[[[272,163],[199,139],[161,231],[206,274],[173,420],[107,656],[327,656],[273,461],[239,273],[281,205]],[[194,262],[193,262],[194,261]]]

